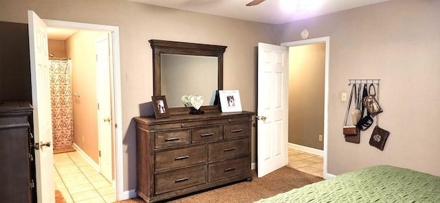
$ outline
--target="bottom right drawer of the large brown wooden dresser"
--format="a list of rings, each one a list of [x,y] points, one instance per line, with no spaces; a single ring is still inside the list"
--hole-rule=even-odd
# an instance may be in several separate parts
[[[250,172],[249,157],[208,165],[208,182],[239,176]]]

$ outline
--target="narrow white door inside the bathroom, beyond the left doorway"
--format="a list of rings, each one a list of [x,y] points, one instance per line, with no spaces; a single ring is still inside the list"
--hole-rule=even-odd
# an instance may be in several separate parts
[[[96,81],[98,92],[98,140],[100,172],[109,182],[112,180],[111,150],[111,82],[109,36],[104,34],[95,40]]]

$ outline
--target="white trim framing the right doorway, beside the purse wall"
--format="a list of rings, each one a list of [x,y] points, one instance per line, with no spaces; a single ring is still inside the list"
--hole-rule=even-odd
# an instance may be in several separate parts
[[[324,178],[329,179],[334,176],[327,174],[327,145],[329,135],[329,54],[330,54],[330,36],[311,38],[307,40],[298,40],[287,43],[281,43],[283,47],[296,47],[303,45],[314,45],[325,43],[325,88],[324,88]]]

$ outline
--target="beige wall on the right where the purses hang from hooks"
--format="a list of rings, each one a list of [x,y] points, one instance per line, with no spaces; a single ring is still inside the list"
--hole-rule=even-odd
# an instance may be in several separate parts
[[[387,1],[281,26],[281,43],[330,36],[328,172],[395,165],[440,176],[440,1]],[[349,79],[381,79],[379,126],[384,152],[342,135]]]

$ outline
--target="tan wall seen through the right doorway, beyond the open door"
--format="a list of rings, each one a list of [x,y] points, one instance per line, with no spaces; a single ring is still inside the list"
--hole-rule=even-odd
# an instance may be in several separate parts
[[[324,150],[325,43],[289,47],[289,143]]]

